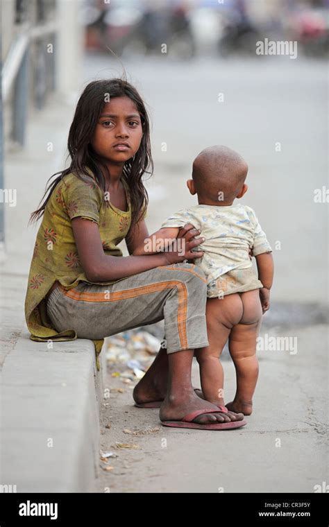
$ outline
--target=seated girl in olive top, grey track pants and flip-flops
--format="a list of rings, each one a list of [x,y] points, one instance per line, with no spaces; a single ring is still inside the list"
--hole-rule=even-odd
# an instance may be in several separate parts
[[[121,79],[87,85],[68,150],[69,169],[54,174],[31,214],[31,221],[43,216],[25,302],[31,339],[90,338],[98,354],[106,336],[165,318],[167,349],[136,386],[135,402],[164,399],[166,426],[242,426],[243,415],[219,411],[192,389],[194,348],[208,345],[206,285],[201,270],[182,262],[202,255],[191,252],[201,243],[198,232],[188,225],[180,233],[183,255],[132,255],[149,236],[142,176],[149,166],[153,171],[149,117],[136,89]],[[122,239],[128,257],[117,248]]]

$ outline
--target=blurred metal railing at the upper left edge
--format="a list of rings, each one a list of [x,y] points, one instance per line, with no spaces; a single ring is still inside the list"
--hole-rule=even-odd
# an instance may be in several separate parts
[[[47,102],[47,94],[56,87],[56,19],[47,21],[51,1],[17,0],[15,4],[15,26],[17,35],[13,38],[4,64],[1,64],[0,88],[0,189],[4,189],[3,156],[4,130],[3,110],[10,115],[10,140],[24,146],[28,105],[41,110]],[[28,10],[31,10],[29,16]],[[54,18],[56,17],[53,11]],[[33,21],[35,20],[33,25]],[[30,19],[30,20],[29,20]],[[18,25],[16,25],[18,24]],[[15,33],[15,32],[14,32]],[[1,43],[0,43],[1,46]],[[0,47],[1,53],[1,47]],[[2,56],[2,55],[1,55]],[[30,74],[33,78],[30,78]],[[33,81],[33,92],[29,81]],[[1,193],[3,196],[3,192]],[[5,241],[4,204],[0,202],[0,260],[3,257]]]

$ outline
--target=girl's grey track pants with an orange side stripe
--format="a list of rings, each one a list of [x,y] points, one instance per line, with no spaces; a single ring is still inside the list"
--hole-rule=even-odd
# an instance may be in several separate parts
[[[92,340],[165,319],[167,353],[208,346],[207,286],[194,264],[160,266],[112,285],[79,282],[54,289],[47,313],[57,331]]]

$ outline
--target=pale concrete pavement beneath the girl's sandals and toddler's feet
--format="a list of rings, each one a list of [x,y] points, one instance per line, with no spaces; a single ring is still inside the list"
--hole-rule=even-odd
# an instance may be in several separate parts
[[[328,483],[328,327],[264,327],[265,334],[292,336],[297,346],[258,352],[253,415],[237,430],[162,426],[158,408],[133,406],[133,383],[111,377],[114,364],[105,385],[110,398],[101,413],[101,449],[118,457],[110,458],[110,472],[103,464],[94,492],[312,493]],[[227,355],[223,368],[230,401],[235,368]],[[192,379],[199,387],[196,362]],[[130,448],[118,449],[117,442]]]

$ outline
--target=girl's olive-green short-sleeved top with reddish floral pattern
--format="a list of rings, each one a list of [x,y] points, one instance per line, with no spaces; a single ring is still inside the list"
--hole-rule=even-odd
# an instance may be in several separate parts
[[[81,281],[89,284],[114,284],[90,282],[85,276],[79,261],[71,220],[78,216],[87,218],[99,225],[101,241],[105,254],[122,256],[117,247],[128,233],[131,222],[131,203],[128,184],[121,180],[126,191],[128,210],[117,209],[110,200],[103,199],[103,192],[88,170],[90,177],[82,175],[83,180],[69,173],[58,182],[44,209],[42,223],[37,232],[28,286],[25,298],[25,318],[31,340],[74,340],[73,329],[58,333],[51,326],[47,316],[44,299],[56,280],[65,288],[71,289]],[[144,214],[145,217],[145,214]],[[122,279],[122,278],[121,278]],[[94,340],[97,368],[99,352],[104,340]]]

